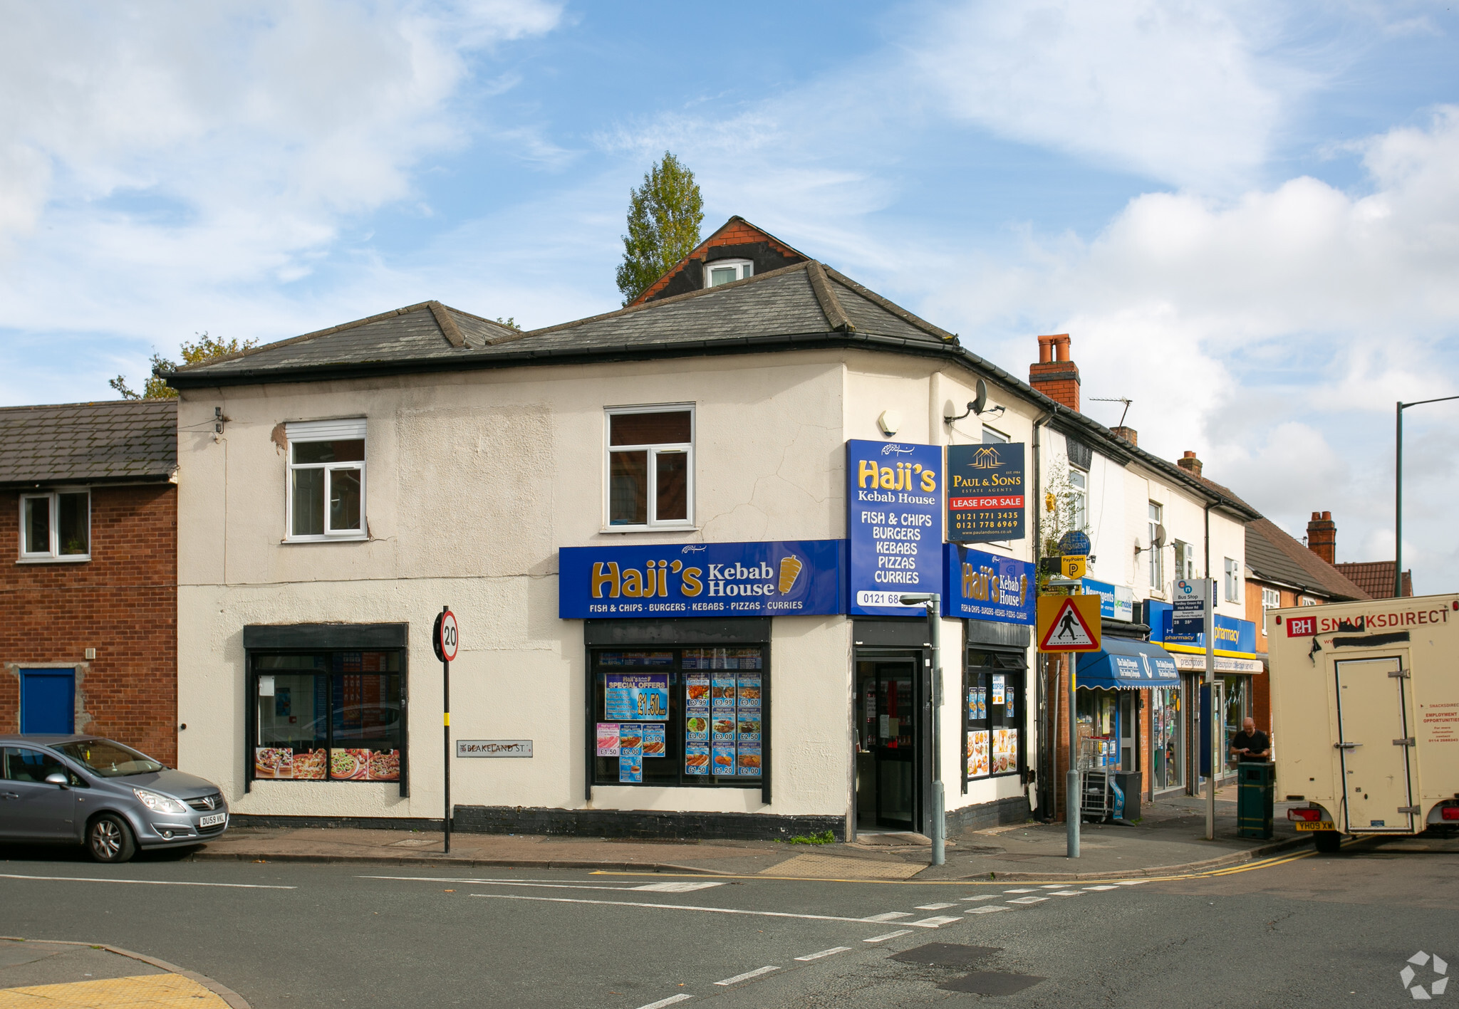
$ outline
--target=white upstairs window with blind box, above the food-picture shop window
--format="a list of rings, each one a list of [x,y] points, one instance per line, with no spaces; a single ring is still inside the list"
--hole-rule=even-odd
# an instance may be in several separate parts
[[[287,532],[293,542],[365,539],[365,418],[285,424]]]

